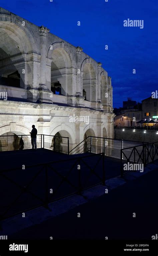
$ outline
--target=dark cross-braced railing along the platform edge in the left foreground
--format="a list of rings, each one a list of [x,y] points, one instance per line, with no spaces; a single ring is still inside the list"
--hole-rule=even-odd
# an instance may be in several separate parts
[[[0,220],[105,185],[104,154],[0,170]]]

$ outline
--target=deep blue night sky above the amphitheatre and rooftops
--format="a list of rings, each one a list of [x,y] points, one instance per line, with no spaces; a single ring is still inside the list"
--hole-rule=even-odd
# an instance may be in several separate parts
[[[157,0],[2,0],[0,6],[101,62],[112,77],[114,107],[127,97],[140,102],[158,89]],[[144,28],[124,27],[128,18],[144,20]]]

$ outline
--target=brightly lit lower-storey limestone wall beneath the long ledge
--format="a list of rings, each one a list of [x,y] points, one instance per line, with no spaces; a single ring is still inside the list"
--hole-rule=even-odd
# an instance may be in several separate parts
[[[0,110],[0,135],[6,132],[29,135],[34,124],[38,134],[59,132],[62,136],[65,132],[64,137],[69,137],[72,147],[83,141],[88,130],[92,131],[91,136],[112,137],[113,117],[97,110],[13,101],[0,101]],[[87,116],[88,119],[71,122],[73,115]]]

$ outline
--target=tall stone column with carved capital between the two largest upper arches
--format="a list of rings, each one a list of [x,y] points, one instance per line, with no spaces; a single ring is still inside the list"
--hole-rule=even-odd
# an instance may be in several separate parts
[[[46,86],[46,36],[50,30],[44,26],[39,27],[40,32],[40,85],[39,88],[47,89]]]

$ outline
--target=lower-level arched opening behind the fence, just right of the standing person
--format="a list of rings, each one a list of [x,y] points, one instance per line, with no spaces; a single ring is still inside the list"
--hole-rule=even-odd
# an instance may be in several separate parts
[[[67,131],[61,130],[54,135],[51,142],[51,148],[56,152],[68,154],[68,150],[70,151],[71,149],[70,144],[72,145],[71,135]]]

